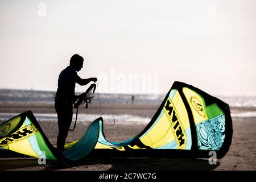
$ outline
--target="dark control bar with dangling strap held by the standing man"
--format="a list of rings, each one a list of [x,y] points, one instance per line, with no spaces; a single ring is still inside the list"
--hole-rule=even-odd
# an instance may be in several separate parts
[[[94,96],[92,96],[92,94],[95,92],[95,89],[96,89],[96,84],[90,85],[89,88],[84,93],[82,93],[80,96],[78,96],[76,101],[74,102],[74,108],[76,108],[76,121],[77,121],[77,114],[78,114],[79,106],[86,103],[85,109],[88,108],[88,103],[90,103],[90,100],[94,97]],[[73,129],[72,130],[69,129],[69,131],[75,130],[76,121],[75,121],[75,125],[73,126]]]

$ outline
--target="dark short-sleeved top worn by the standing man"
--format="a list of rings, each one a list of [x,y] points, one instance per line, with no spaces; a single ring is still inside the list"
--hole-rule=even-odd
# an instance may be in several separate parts
[[[74,68],[68,66],[60,72],[58,79],[58,89],[56,93],[56,101],[67,100],[69,104],[75,101],[75,86],[79,76]]]

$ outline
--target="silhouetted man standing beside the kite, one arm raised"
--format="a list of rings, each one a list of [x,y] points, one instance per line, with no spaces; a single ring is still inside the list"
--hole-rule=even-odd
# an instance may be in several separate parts
[[[71,57],[69,66],[60,72],[58,88],[55,97],[55,110],[58,117],[59,134],[57,137],[57,159],[60,163],[66,164],[63,158],[65,140],[73,117],[73,102],[80,96],[75,95],[75,85],[87,85],[90,81],[97,81],[97,78],[82,79],[77,75],[82,69],[84,59],[75,54]]]

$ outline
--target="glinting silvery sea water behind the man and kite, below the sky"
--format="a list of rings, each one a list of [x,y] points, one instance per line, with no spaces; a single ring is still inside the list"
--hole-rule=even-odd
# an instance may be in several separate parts
[[[80,93],[77,93],[80,94]],[[0,89],[0,104],[54,104],[55,92],[40,90],[16,90],[16,89]],[[134,100],[132,100],[134,96]],[[158,97],[151,99],[147,94],[110,94],[110,93],[94,93],[94,101],[102,104],[137,104],[137,105],[160,105],[166,94],[159,94]],[[231,113],[232,117],[256,117],[256,96],[214,96],[236,107],[241,111]],[[247,109],[246,109],[247,108]],[[20,113],[0,113],[0,120],[6,121]],[[38,121],[57,121],[56,113],[34,113]],[[77,121],[93,121],[97,117],[104,118],[104,121],[112,122],[113,118],[123,122],[140,122],[148,123],[151,118],[142,117],[133,114],[79,114]],[[75,119],[75,114],[73,115]]]

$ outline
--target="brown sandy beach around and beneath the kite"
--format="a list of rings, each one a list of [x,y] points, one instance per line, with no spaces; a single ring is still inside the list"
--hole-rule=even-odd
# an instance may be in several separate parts
[[[89,109],[80,109],[79,113],[95,114],[96,105],[90,105]],[[101,114],[133,114],[151,118],[158,105],[131,105],[113,104],[101,105]],[[31,110],[33,113],[55,113],[53,105],[0,105],[1,113],[22,113]],[[98,110],[98,108],[97,108]],[[232,113],[255,111],[255,108],[233,107]],[[75,110],[74,110],[75,113]],[[229,152],[217,164],[210,165],[208,159],[184,159],[184,158],[84,158],[69,168],[60,167],[55,161],[47,160],[46,165],[40,166],[35,158],[0,158],[0,170],[253,170],[256,169],[256,118],[233,117],[233,138]],[[1,121],[2,123],[3,121]],[[86,131],[90,122],[77,122],[75,131],[69,132],[67,143],[79,139]],[[57,123],[52,121],[39,121],[47,138],[55,146],[57,138]],[[108,140],[122,142],[140,133],[147,123],[137,122],[105,122],[104,133]],[[73,126],[73,125],[72,125]],[[102,155],[104,156],[104,155]]]

